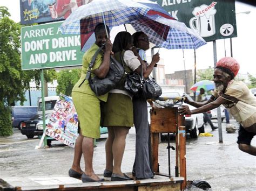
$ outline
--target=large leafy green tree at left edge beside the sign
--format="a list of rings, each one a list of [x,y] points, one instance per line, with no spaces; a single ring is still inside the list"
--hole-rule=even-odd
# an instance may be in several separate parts
[[[0,6],[0,136],[12,135],[10,106],[25,101],[31,79],[40,82],[39,70],[21,68],[21,25],[9,18],[8,8]],[[46,77],[52,81],[53,72]]]

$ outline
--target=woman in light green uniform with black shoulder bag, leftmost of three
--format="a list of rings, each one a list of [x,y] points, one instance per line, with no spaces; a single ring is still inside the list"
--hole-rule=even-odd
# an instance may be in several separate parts
[[[109,27],[106,26],[110,33]],[[72,167],[69,170],[69,176],[80,178],[83,182],[100,182],[99,176],[93,171],[93,141],[100,137],[100,102],[106,102],[108,94],[96,96],[91,90],[89,81],[85,80],[87,69],[93,55],[99,47],[105,45],[103,51],[99,52],[92,67],[91,77],[98,76],[103,79],[109,72],[110,54],[112,52],[112,43],[107,38],[105,25],[99,23],[95,27],[96,42],[83,56],[82,74],[79,81],[72,89],[72,99],[75,105],[79,119],[79,136],[76,140],[75,154]],[[109,36],[109,35],[108,35]],[[85,171],[80,167],[80,159],[84,155]]]

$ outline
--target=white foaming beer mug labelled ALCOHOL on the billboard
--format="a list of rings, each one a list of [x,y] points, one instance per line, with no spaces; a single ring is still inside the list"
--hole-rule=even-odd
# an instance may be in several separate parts
[[[190,27],[201,37],[210,37],[215,34],[215,18],[217,10],[214,8],[216,3],[211,5],[201,5],[194,8],[192,14],[195,17],[190,19]]]

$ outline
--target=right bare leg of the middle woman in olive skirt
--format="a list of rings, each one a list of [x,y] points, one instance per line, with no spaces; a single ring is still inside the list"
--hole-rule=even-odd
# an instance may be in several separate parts
[[[121,171],[121,165],[125,149],[125,139],[126,135],[129,132],[129,128],[126,127],[114,127],[114,141],[113,141],[113,159],[114,167],[113,173],[124,176]]]

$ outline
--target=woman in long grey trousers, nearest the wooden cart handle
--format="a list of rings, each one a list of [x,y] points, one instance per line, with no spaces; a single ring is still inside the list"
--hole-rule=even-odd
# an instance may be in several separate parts
[[[136,47],[134,53],[143,60],[143,77],[146,79],[159,62],[160,57],[158,53],[153,55],[151,63],[148,64],[145,51],[149,49],[149,38],[143,32],[136,32],[132,36],[133,45]],[[132,172],[136,179],[149,179],[153,178],[153,171],[147,101],[143,96],[136,96],[133,97],[132,102],[134,127],[136,129],[136,154]]]

